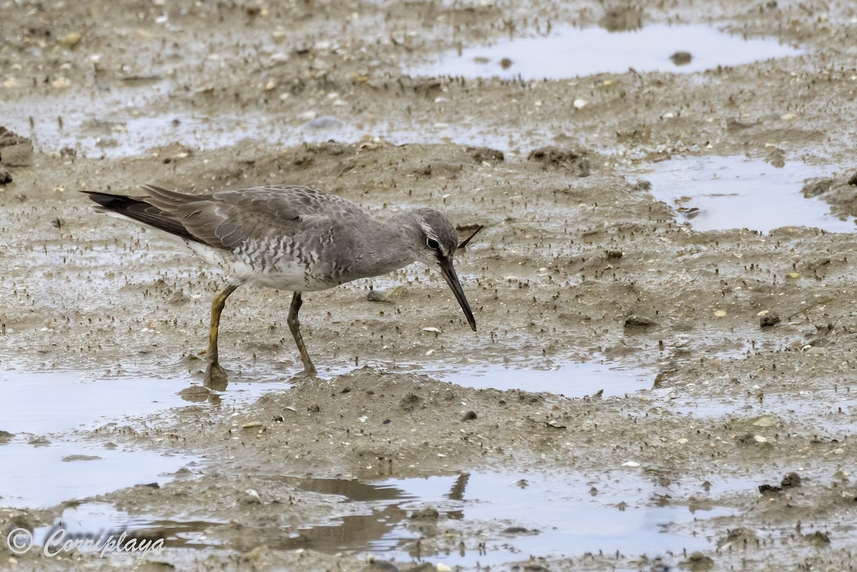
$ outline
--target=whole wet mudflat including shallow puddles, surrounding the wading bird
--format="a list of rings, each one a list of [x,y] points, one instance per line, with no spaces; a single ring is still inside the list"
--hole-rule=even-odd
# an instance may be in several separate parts
[[[0,532],[166,543],[0,542],[0,568],[853,567],[850,4],[0,9]],[[713,32],[652,69],[542,79],[495,50],[419,73],[686,25]],[[717,34],[782,51],[680,69]],[[735,170],[766,198],[730,202]],[[143,183],[299,183],[483,225],[456,258],[478,331],[411,265],[305,295],[321,378],[295,378],[290,295],[242,288],[228,390],[179,393],[223,277],[77,192]],[[117,478],[75,485],[93,474]]]

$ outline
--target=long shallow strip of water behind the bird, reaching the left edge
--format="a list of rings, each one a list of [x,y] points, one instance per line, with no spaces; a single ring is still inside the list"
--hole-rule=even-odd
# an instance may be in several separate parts
[[[147,111],[149,100],[124,88],[102,95],[97,102],[67,99],[33,98],[4,104],[9,117],[4,126],[33,139],[45,152],[65,148],[87,157],[123,158],[147,155],[156,147],[178,143],[203,151],[236,146],[242,140],[264,140],[282,146],[337,140],[352,143],[364,136],[382,137],[396,145],[413,141],[460,140],[469,145],[507,149],[508,135],[493,128],[474,125],[403,125],[401,122],[353,121],[352,117],[319,116],[309,121],[282,116],[272,119],[249,111],[242,116],[225,115],[217,110],[175,110],[165,115]],[[57,115],[63,117],[62,126]],[[33,123],[28,121],[33,117]],[[45,119],[49,118],[49,119]],[[548,139],[538,139],[547,144]],[[520,143],[520,142],[518,142]],[[187,157],[179,148],[160,152],[165,162]]]

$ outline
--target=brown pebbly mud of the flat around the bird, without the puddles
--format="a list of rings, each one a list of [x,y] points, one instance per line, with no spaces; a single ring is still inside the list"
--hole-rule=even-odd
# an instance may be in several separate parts
[[[201,381],[219,271],[164,236],[93,212],[78,190],[301,183],[379,217],[439,206],[462,233],[485,226],[456,261],[478,332],[440,276],[415,265],[305,297],[304,337],[322,375],[357,363],[353,372],[296,380],[240,410],[189,403],[80,432],[210,459],[166,486],[99,499],[132,514],[223,522],[207,530],[220,548],[129,564],[93,554],[13,557],[0,545],[0,568],[66,569],[71,559],[91,569],[422,569],[428,564],[294,550],[285,534],[333,507],[259,475],[525,470],[580,474],[598,487],[642,474],[664,494],[629,490],[632,506],[719,506],[732,515],[701,525],[715,540],[704,553],[601,554],[593,546],[570,558],[520,555],[504,569],[853,569],[853,235],[696,232],[636,173],[685,154],[830,165],[830,180],[810,182],[806,193],[857,214],[848,184],[857,11],[844,2],[691,4],[638,3],[611,14],[596,2],[517,0],[0,1],[5,368]],[[703,74],[530,82],[407,74],[442,51],[548,21],[710,21],[804,54]],[[576,109],[575,98],[588,104]],[[218,146],[162,134],[147,151],[124,155],[128,124],[99,119],[117,116],[115,107],[99,108],[111,101],[125,102],[118,116],[204,112],[293,130],[333,117],[358,135]],[[3,109],[28,118],[13,123]],[[91,119],[71,136],[94,141],[94,150],[44,135],[69,137],[63,116],[86,113]],[[411,133],[407,144],[375,136],[379,122]],[[509,146],[438,140],[438,124]],[[381,301],[369,301],[369,289]],[[220,360],[233,381],[300,369],[287,303],[288,294],[268,290],[231,297]],[[595,360],[644,370],[653,386],[604,398],[592,387],[575,399],[527,390],[528,368]],[[520,389],[474,390],[397,371],[424,366],[442,379],[474,364],[519,366]],[[790,473],[800,479],[781,482]],[[746,486],[716,495],[705,486],[734,481]],[[476,550],[508,526],[469,530],[430,508],[409,525],[423,537],[427,562],[459,545]],[[0,509],[0,527],[50,523],[61,510]]]

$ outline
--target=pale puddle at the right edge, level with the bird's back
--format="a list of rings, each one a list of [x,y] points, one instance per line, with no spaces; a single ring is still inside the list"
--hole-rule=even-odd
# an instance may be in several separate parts
[[[830,215],[821,200],[806,199],[806,179],[829,169],[798,162],[776,168],[764,161],[730,157],[676,157],[640,173],[651,193],[682,212],[697,230],[751,229],[769,232],[806,226],[854,232],[854,220]]]

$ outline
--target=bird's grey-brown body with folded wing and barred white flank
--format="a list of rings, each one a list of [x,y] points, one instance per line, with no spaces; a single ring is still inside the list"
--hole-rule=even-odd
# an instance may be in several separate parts
[[[299,291],[354,279],[360,247],[379,224],[350,200],[297,186],[189,197],[173,208],[213,248],[189,245],[203,258],[242,282]]]

